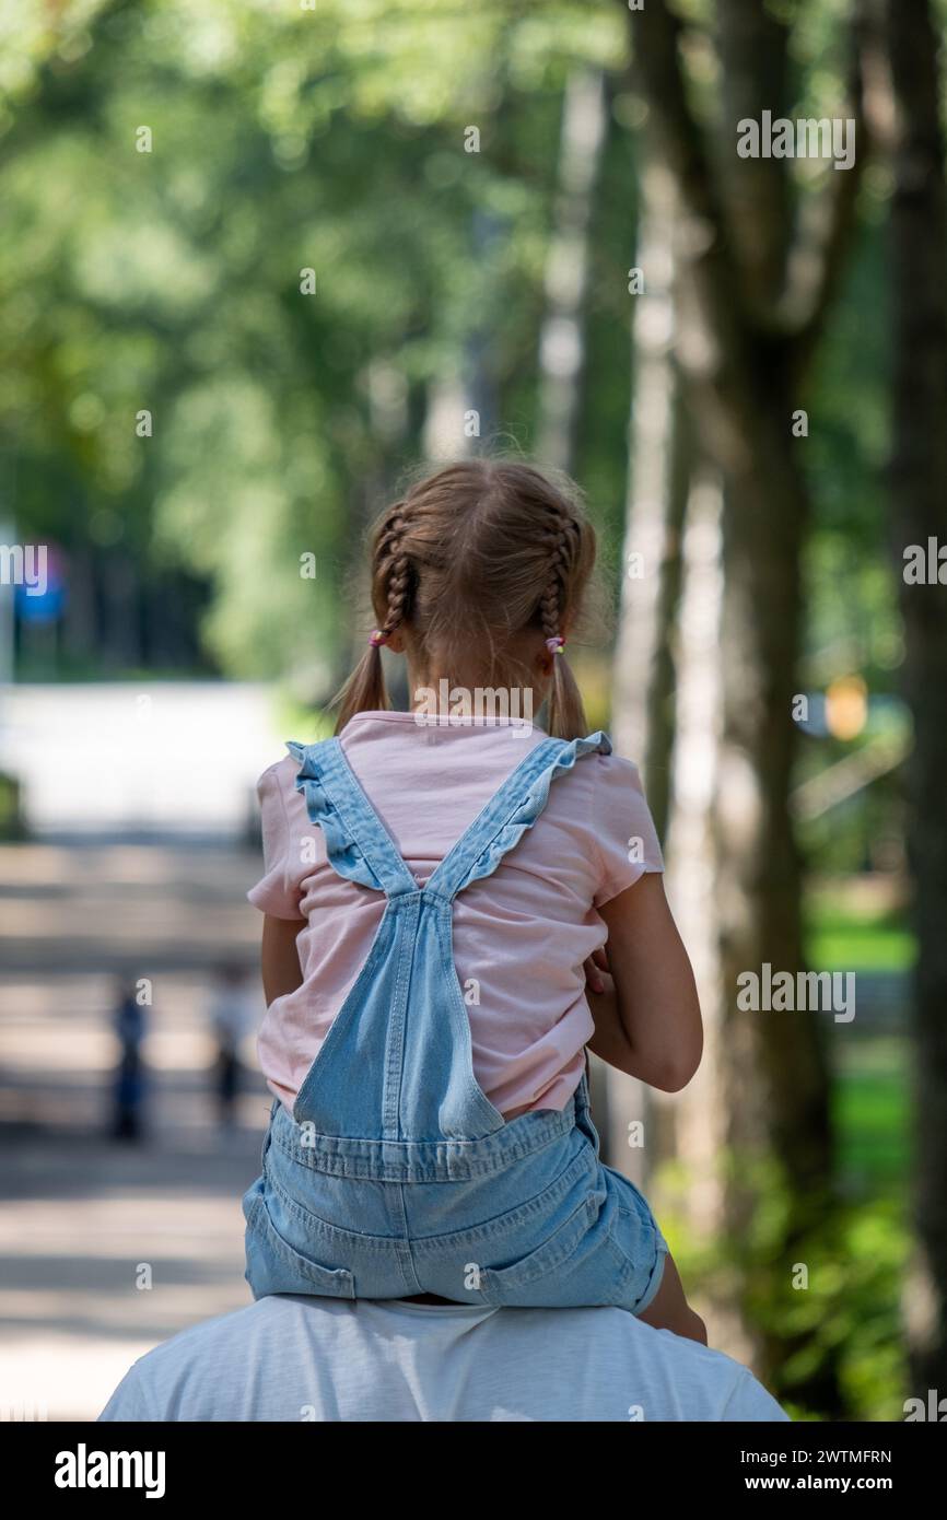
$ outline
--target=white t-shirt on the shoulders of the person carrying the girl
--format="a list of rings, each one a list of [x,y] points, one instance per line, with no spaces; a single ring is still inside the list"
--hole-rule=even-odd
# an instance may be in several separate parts
[[[751,1373],[622,1309],[261,1298],[134,1363],[100,1420],[787,1420]]]

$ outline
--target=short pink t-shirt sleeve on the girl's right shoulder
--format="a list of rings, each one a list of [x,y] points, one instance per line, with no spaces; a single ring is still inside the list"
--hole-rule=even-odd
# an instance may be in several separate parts
[[[648,871],[663,871],[664,859],[637,765],[619,755],[593,757],[590,763],[594,768],[593,834],[599,853],[594,904],[600,907]]]

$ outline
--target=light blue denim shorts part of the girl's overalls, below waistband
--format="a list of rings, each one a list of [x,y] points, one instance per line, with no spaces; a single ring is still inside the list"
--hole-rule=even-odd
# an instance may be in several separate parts
[[[667,1243],[634,1183],[599,1160],[588,1116],[579,1117],[512,1163],[496,1149],[462,1158],[450,1178],[400,1183],[347,1175],[351,1164],[325,1170],[319,1152],[307,1151],[304,1126],[277,1102],[263,1175],[243,1199],[254,1297],[426,1292],[641,1313],[660,1287]]]

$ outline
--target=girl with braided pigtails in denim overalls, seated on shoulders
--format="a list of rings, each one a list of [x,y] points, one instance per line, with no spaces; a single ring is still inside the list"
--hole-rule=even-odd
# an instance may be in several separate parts
[[[702,1047],[637,769],[585,737],[562,654],[593,559],[572,485],[488,461],[421,480],[374,532],[378,628],[336,737],[260,780],[257,1298],[617,1304],[705,1342],[588,1111],[587,1046],[664,1091]],[[503,695],[518,719],[485,711]],[[544,696],[547,733],[523,722]]]

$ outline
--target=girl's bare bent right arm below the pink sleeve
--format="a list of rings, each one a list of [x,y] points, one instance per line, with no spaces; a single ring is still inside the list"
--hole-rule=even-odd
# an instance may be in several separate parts
[[[610,976],[590,974],[596,1032],[588,1049],[649,1087],[678,1093],[701,1064],[704,1029],[661,874],[648,871],[599,912],[608,927]]]

